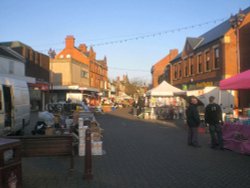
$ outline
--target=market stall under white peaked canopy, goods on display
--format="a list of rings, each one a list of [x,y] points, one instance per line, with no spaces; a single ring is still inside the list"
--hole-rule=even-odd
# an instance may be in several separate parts
[[[150,119],[177,119],[184,113],[184,100],[177,95],[185,95],[185,91],[163,81],[157,87],[147,91],[149,110],[146,117]],[[150,111],[150,112],[149,112]]]

